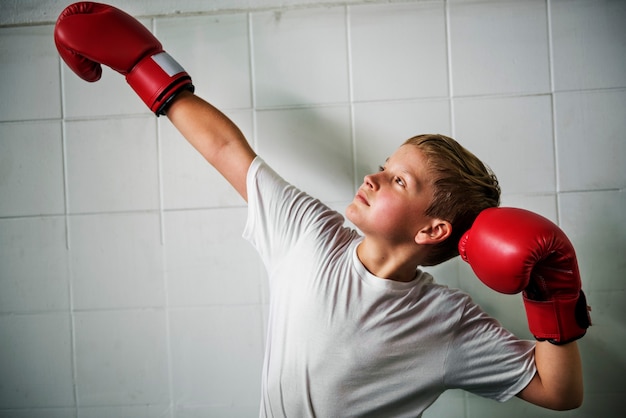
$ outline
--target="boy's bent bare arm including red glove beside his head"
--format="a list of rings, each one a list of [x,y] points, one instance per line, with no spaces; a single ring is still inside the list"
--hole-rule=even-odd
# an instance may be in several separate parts
[[[575,340],[591,324],[574,247],[548,219],[516,208],[481,212],[459,253],[487,286],[522,292],[537,373],[518,396],[551,409],[582,403],[582,366]]]

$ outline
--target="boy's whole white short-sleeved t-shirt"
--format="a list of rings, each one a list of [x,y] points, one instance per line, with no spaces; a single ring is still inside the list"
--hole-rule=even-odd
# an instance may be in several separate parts
[[[428,273],[372,275],[343,217],[258,157],[247,192],[270,280],[261,417],[419,417],[446,389],[505,401],[534,376],[534,342]]]

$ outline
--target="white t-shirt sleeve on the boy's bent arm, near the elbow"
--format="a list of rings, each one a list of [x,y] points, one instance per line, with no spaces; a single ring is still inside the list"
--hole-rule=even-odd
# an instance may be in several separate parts
[[[534,341],[520,340],[468,297],[448,347],[445,383],[504,402],[536,373]]]

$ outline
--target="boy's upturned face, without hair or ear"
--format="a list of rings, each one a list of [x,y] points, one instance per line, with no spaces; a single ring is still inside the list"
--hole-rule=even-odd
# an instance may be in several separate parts
[[[378,173],[365,176],[346,216],[366,236],[406,243],[429,223],[432,198],[426,158],[416,146],[403,145]]]

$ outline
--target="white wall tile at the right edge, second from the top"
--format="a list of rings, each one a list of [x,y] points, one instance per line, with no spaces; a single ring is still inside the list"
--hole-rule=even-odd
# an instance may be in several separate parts
[[[626,187],[626,91],[558,93],[559,189]]]

